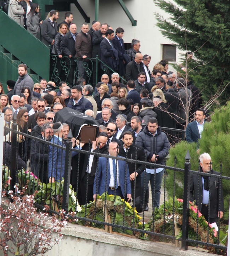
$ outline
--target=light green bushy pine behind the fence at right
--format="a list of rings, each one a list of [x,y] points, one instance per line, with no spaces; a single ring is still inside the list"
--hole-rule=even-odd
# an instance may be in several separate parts
[[[182,141],[169,150],[168,166],[174,166],[175,156],[176,167],[184,169],[185,155],[189,150],[191,156],[191,170],[199,168],[199,155],[209,153],[212,158],[212,168],[220,172],[222,164],[222,175],[230,177],[230,102],[222,108],[216,109],[212,115],[212,121],[204,125],[202,137],[199,141],[200,152],[197,153],[197,144]],[[174,171],[167,170],[166,190],[168,195],[173,195]],[[176,171],[175,195],[183,198],[184,173]],[[222,180],[224,193],[224,218],[229,218],[230,181]]]

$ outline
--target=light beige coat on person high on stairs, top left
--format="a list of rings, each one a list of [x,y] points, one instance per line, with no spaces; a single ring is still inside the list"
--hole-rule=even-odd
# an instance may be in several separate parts
[[[16,21],[19,25],[24,27],[24,11],[22,9],[22,5],[17,0],[10,0],[9,8],[8,8],[8,16],[11,17],[14,21]]]

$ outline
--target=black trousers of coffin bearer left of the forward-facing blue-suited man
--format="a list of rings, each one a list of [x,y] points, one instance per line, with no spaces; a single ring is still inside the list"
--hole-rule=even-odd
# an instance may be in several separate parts
[[[87,176],[88,176],[88,187],[87,187]],[[82,204],[90,203],[93,201],[93,183],[94,183],[94,176],[91,176],[90,173],[87,172],[81,179],[81,197],[82,197]],[[87,200],[86,200],[86,193],[87,193]]]

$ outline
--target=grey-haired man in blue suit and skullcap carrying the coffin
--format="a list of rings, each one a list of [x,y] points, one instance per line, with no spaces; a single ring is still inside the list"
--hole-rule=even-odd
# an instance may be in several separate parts
[[[54,136],[51,139],[51,143],[57,144],[58,146],[65,148],[65,143],[62,138],[63,136],[63,126],[61,123],[55,123],[53,124],[53,133]],[[74,145],[73,145],[74,146]],[[58,180],[62,180],[62,177],[64,177],[64,171],[65,171],[65,150],[57,147],[53,147],[50,145],[50,150],[48,151],[49,155],[49,167],[48,167],[48,173],[49,173],[49,183],[53,183]],[[77,154],[77,152],[71,152],[72,157]]]

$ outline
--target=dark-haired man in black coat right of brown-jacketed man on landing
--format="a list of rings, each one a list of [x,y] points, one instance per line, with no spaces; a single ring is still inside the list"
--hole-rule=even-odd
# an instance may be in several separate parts
[[[107,23],[102,23],[100,29],[93,33],[93,50],[92,50],[92,58],[93,60],[93,84],[96,85],[96,57],[100,58],[100,42],[105,38],[105,32],[108,29]],[[100,62],[98,62],[98,67],[100,67]],[[103,71],[98,68],[98,77],[102,76]],[[97,81],[98,82],[98,81]]]

